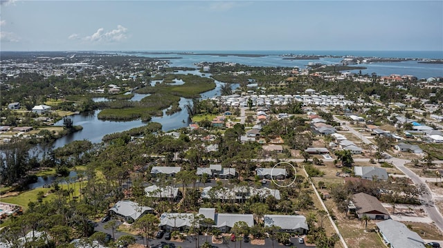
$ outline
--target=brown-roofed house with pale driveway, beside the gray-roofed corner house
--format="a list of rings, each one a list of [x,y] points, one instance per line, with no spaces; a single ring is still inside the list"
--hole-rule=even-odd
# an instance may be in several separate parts
[[[347,209],[359,219],[368,216],[371,220],[388,220],[389,213],[377,198],[367,193],[356,193],[352,196]]]

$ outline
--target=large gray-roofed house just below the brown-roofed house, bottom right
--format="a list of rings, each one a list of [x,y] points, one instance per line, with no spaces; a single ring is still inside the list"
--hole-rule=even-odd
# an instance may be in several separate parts
[[[424,240],[415,231],[395,220],[377,222],[379,232],[386,245],[391,248],[424,248]]]

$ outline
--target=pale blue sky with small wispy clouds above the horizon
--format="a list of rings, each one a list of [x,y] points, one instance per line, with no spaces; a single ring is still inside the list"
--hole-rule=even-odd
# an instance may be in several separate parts
[[[443,50],[443,1],[0,0],[1,50]]]

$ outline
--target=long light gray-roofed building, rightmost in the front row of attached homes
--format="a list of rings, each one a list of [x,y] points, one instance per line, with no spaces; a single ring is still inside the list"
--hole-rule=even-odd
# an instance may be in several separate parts
[[[300,234],[309,230],[305,216],[265,215],[264,227],[272,226],[280,227],[282,231]]]

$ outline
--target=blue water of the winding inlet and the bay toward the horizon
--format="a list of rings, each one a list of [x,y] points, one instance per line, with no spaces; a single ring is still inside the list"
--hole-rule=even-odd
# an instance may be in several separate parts
[[[201,51],[201,53],[206,54],[198,54],[198,55],[186,55],[177,53],[177,57],[181,57],[181,59],[170,59],[170,66],[177,67],[188,67],[188,68],[196,68],[196,70],[179,70],[177,74],[188,74],[191,73],[193,75],[199,75],[201,77],[210,77],[210,73],[201,73],[197,70],[197,66],[195,64],[201,61],[208,62],[216,62],[216,61],[226,61],[233,62],[239,64],[246,64],[248,66],[284,66],[284,67],[299,67],[305,68],[305,66],[309,62],[322,63],[322,64],[338,64],[341,61],[341,57],[322,57],[320,59],[312,59],[312,60],[297,60],[297,59],[283,59],[281,55],[283,54],[305,54],[305,55],[340,55],[340,56],[376,56],[376,57],[411,57],[411,58],[443,58],[443,54],[440,51],[424,51],[424,52],[387,52],[387,51],[225,51],[225,52],[210,52],[210,51]],[[226,56],[219,55],[209,55],[208,53],[225,53]],[[121,53],[126,54],[126,53]],[[262,54],[262,57],[240,57],[233,56],[229,54]],[[134,54],[132,54],[134,55]],[[163,55],[155,54],[149,55],[146,53],[136,54],[138,56],[143,57],[161,57]],[[165,53],[166,57],[170,57],[171,54]],[[362,66],[366,66],[367,69],[362,70],[362,73],[377,73],[377,75],[391,75],[391,74],[399,74],[399,75],[415,75],[419,78],[427,78],[427,77],[438,77],[443,76],[443,65],[442,64],[419,64],[417,61],[404,61],[404,62],[385,62],[385,63],[373,63],[373,64],[363,64]],[[354,71],[358,73],[357,71]],[[159,82],[151,82],[152,85]],[[214,97],[219,95],[221,85],[224,83],[216,81],[216,88],[210,90],[206,93],[201,94],[201,99],[207,99],[210,97]],[[181,80],[176,80],[174,84],[183,84]],[[233,85],[233,88],[238,88],[238,85]],[[143,97],[147,95],[135,93],[134,97],[130,99],[131,101],[140,101]],[[100,101],[108,101],[105,97],[96,97],[93,99],[96,102]],[[166,115],[165,110],[163,111],[162,117],[153,117],[152,122],[159,122],[163,126],[163,131],[170,131],[172,129],[181,128],[184,126],[188,126],[189,124],[189,115],[186,111],[185,105],[191,102],[191,99],[181,98],[179,102],[179,106],[181,111],[178,113],[174,113],[172,115]],[[114,121],[104,121],[98,120],[98,113],[100,111],[93,111],[91,113],[81,113],[80,115],[73,115],[71,118],[73,119],[73,124],[83,126],[82,131],[78,131],[76,133],[72,133],[71,135],[67,135],[58,139],[54,147],[61,147],[73,140],[89,140],[93,143],[101,142],[102,137],[108,133],[118,133],[122,131],[129,130],[131,128],[135,128],[138,126],[143,126],[141,120],[133,120],[129,122],[114,122]],[[55,125],[62,125],[62,121],[57,122]]]

